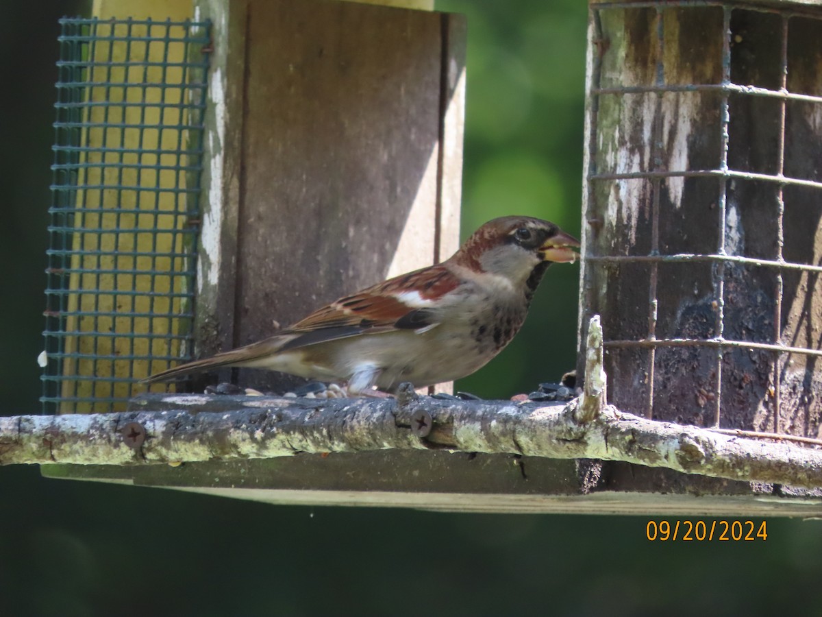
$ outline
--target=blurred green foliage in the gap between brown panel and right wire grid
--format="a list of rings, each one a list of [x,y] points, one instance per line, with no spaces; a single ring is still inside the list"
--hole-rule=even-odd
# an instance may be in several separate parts
[[[468,17],[463,235],[524,214],[580,233],[584,2],[440,0]],[[575,368],[579,267],[552,266],[520,335],[457,384],[483,397],[530,392]]]

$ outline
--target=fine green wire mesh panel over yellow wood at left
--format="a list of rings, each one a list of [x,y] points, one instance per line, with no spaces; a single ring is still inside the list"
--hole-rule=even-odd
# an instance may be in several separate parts
[[[120,411],[191,354],[210,24],[60,27],[41,401]]]

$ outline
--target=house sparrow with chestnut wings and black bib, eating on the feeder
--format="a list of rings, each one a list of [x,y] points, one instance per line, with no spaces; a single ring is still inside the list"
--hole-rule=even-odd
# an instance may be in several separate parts
[[[503,216],[436,266],[347,295],[236,350],[156,373],[154,382],[242,366],[348,383],[351,394],[392,392],[473,373],[520,330],[551,262],[573,262],[580,243],[547,220]]]

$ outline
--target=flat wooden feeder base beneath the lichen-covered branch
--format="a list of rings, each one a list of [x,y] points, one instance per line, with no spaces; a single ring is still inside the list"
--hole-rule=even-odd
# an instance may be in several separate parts
[[[617,463],[465,452],[358,452],[117,467],[43,465],[50,478],[156,486],[266,503],[450,512],[819,517],[820,494]]]

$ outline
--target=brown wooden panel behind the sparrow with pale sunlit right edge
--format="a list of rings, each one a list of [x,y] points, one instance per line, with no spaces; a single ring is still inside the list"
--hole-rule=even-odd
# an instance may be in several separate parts
[[[323,0],[198,7],[228,33],[212,67],[198,355],[457,248],[460,16]],[[239,373],[254,387],[298,383]]]

